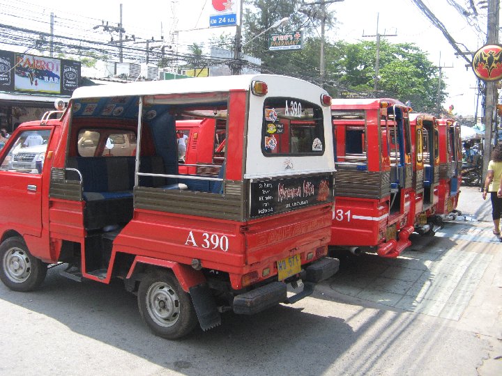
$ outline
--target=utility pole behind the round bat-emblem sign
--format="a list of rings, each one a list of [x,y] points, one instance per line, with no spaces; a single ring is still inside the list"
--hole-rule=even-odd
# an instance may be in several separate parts
[[[488,0],[487,45],[499,44],[499,8],[500,0]],[[485,84],[485,146],[483,147],[483,177],[488,169],[490,154],[492,154],[492,127],[494,123],[497,89],[495,81]]]

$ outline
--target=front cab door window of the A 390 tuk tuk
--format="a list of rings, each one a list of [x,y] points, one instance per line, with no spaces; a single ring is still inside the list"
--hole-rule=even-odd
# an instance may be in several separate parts
[[[8,150],[0,170],[23,173],[41,173],[50,130],[25,131]]]

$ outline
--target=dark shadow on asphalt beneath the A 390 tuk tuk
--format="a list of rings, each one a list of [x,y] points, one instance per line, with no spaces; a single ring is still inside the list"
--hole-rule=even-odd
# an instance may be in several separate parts
[[[121,281],[75,283],[59,276],[57,269],[50,269],[34,292],[13,292],[0,285],[0,299],[185,375],[218,374],[224,369],[235,374],[250,367],[252,374],[265,374],[273,365],[287,374],[292,372],[287,369],[291,357],[305,353],[306,347],[311,349],[305,357],[308,373],[320,375],[358,337],[344,320],[334,317],[335,312],[324,317],[303,308],[277,306],[252,316],[225,313],[220,327],[207,332],[197,328],[183,340],[169,341],[151,334],[139,316],[136,297],[123,289]],[[328,346],[313,351],[320,343]]]

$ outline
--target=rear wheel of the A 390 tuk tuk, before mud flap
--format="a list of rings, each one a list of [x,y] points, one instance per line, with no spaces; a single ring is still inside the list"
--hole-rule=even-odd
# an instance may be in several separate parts
[[[190,295],[172,272],[156,272],[139,283],[138,308],[143,321],[157,336],[176,339],[197,325]]]

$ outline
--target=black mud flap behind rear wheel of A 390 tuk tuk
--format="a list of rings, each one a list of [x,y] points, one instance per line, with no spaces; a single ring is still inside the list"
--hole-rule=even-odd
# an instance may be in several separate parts
[[[206,331],[221,324],[221,315],[218,312],[215,299],[207,283],[195,285],[190,288],[190,296],[197,313],[201,329]]]

